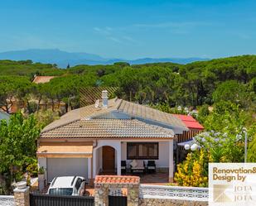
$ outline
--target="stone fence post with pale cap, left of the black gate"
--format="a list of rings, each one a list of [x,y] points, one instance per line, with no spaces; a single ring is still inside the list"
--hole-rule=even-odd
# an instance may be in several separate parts
[[[17,188],[13,190],[16,206],[30,206],[29,204],[29,187],[26,182],[17,183]]]

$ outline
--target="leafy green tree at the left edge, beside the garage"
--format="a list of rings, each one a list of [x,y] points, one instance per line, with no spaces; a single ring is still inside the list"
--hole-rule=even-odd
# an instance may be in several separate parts
[[[20,180],[27,163],[36,159],[36,139],[40,129],[33,116],[12,115],[0,124],[0,174],[4,175],[10,192],[12,180]]]

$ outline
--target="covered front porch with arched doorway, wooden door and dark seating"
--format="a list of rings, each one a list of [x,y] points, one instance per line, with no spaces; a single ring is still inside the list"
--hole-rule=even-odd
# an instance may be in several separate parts
[[[173,139],[100,140],[91,160],[91,179],[96,175],[137,175],[142,183],[173,182]]]

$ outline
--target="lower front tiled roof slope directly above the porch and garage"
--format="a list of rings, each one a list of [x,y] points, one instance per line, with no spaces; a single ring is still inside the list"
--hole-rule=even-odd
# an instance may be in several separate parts
[[[136,119],[88,119],[71,122],[49,131],[41,138],[173,138],[171,129],[140,122]]]

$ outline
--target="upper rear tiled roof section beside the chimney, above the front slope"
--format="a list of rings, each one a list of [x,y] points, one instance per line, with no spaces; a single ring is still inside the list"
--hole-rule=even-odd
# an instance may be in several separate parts
[[[167,127],[178,127],[188,130],[186,125],[174,115],[163,113],[157,109],[149,108],[138,103],[129,103],[120,98],[109,100],[108,108],[95,108],[94,104],[79,108],[66,113],[59,120],[52,122],[42,132],[50,131],[56,127],[62,127],[81,119],[138,119],[142,122],[150,121],[156,125],[162,124]]]

